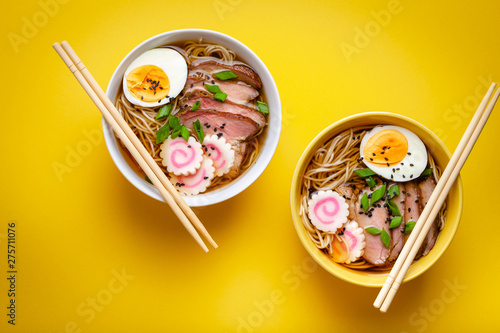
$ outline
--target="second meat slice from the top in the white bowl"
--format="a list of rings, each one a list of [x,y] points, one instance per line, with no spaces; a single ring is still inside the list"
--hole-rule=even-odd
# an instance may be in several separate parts
[[[259,92],[249,84],[241,81],[220,81],[217,79],[206,80],[205,77],[188,77],[186,85],[184,86],[184,94],[191,94],[198,91],[210,94],[205,87],[205,83],[217,85],[223,93],[227,94],[226,101],[256,109],[256,106],[249,102],[257,98],[257,96],[259,96]]]

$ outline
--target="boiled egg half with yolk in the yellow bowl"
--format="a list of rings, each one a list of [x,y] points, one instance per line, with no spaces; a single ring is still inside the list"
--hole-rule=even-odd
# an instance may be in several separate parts
[[[360,155],[373,172],[398,182],[419,177],[427,166],[427,149],[422,140],[399,126],[377,126],[366,133]]]

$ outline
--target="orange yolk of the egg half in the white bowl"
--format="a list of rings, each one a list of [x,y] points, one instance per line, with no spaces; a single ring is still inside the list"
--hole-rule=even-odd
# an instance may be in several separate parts
[[[127,88],[138,100],[153,103],[168,95],[170,82],[160,67],[143,65],[127,74]]]

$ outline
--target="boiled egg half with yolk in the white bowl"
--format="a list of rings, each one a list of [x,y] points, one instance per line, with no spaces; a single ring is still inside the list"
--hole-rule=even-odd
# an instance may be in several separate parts
[[[170,102],[184,88],[187,64],[179,52],[158,48],[137,57],[123,75],[123,92],[130,103],[155,107]]]

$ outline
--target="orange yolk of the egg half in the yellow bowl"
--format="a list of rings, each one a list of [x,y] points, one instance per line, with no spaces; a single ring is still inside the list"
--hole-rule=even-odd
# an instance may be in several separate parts
[[[401,162],[408,152],[408,140],[395,129],[373,134],[365,144],[363,158],[377,166],[392,166]]]

